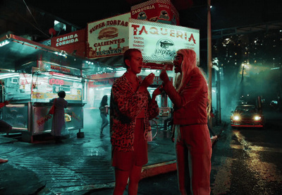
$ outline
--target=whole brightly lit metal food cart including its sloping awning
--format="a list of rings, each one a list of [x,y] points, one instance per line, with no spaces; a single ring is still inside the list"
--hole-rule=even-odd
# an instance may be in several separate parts
[[[86,82],[81,71],[83,60],[16,35],[7,35],[0,42],[6,42],[0,51],[8,50],[4,62],[9,66],[8,71],[0,69],[1,100],[11,100],[1,115],[13,126],[11,132],[22,133],[23,141],[27,142],[32,142],[35,135],[49,133],[49,109],[54,98],[58,98],[59,90],[64,90],[68,101],[67,129],[78,129],[78,137],[81,136],[86,102]],[[23,64],[25,61],[28,62]]]

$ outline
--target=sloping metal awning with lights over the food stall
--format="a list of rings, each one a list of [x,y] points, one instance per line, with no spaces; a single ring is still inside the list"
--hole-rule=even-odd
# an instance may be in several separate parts
[[[92,59],[68,54],[63,50],[42,45],[17,35],[6,35],[0,38],[0,70],[16,71],[30,61],[50,61],[61,66],[69,66],[85,71],[87,75],[94,73],[94,66],[104,66]]]

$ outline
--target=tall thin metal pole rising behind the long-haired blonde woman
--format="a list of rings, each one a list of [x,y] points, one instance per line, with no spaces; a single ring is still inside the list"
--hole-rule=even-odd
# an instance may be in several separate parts
[[[209,97],[211,98],[210,106],[212,107],[212,27],[211,27],[211,0],[207,0],[207,70],[209,77]],[[209,126],[212,127],[212,120],[209,120]]]

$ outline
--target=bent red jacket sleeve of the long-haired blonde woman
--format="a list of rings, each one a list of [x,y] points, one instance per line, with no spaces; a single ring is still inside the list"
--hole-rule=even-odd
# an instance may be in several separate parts
[[[192,76],[181,91],[181,95],[176,91],[171,82],[164,83],[164,90],[176,108],[184,107],[188,102],[196,100],[197,94],[202,88],[202,79],[201,75]]]

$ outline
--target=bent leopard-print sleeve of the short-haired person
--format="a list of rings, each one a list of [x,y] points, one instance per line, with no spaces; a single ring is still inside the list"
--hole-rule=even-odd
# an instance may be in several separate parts
[[[114,84],[112,87],[114,102],[118,105],[118,110],[130,119],[135,119],[140,113],[141,108],[147,103],[147,93],[133,93],[126,85],[122,83]]]

